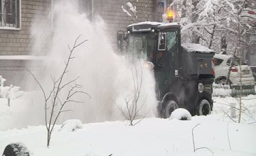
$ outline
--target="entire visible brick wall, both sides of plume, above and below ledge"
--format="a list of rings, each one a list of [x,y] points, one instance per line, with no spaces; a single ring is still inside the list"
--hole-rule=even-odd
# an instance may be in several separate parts
[[[54,0],[57,1],[57,0]],[[71,0],[70,0],[71,1]],[[93,15],[100,15],[107,25],[107,33],[112,39],[113,45],[116,45],[117,30],[126,30],[131,23],[139,21],[156,21],[154,14],[154,3],[156,0],[131,0],[132,4],[137,7],[137,21],[122,11],[121,6],[126,6],[126,2],[122,0],[93,0]],[[3,30],[0,28],[0,55],[30,55],[31,51],[38,55],[46,54],[33,50],[35,40],[31,40],[32,23],[38,23],[41,26],[46,24],[46,16],[50,12],[50,0],[21,0],[21,29],[20,30]],[[129,10],[129,8],[126,8]],[[36,30],[38,32],[38,30]],[[41,32],[43,35],[50,32]],[[40,35],[40,34],[39,34]],[[44,49],[44,48],[42,48]],[[0,75],[7,79],[6,85],[14,84],[21,87],[23,79],[28,78],[28,74],[24,72],[23,67],[29,60],[1,60],[0,59]],[[15,73],[15,74],[14,74]]]

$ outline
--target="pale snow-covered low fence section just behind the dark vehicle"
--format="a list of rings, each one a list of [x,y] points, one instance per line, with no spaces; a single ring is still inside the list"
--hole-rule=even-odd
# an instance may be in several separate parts
[[[226,97],[231,96],[232,90],[229,85],[215,84],[213,83],[213,94],[212,96]]]

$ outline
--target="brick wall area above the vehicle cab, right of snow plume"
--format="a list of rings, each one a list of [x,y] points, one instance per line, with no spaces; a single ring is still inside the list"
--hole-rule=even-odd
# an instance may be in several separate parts
[[[136,6],[137,21],[134,21],[127,13],[122,11],[121,6],[129,11],[126,6],[126,1],[121,0],[94,0],[94,17],[100,15],[105,23],[107,23],[107,30],[112,37],[113,43],[116,40],[117,30],[126,30],[127,26],[131,23],[140,21],[156,21],[159,17],[155,13],[156,2],[155,0],[130,0],[133,6]],[[129,11],[132,13],[132,11]],[[134,17],[134,16],[133,16]]]

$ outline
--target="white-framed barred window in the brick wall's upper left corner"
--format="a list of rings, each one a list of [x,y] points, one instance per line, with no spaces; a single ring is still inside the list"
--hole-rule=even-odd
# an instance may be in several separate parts
[[[0,28],[20,28],[21,0],[0,1]]]

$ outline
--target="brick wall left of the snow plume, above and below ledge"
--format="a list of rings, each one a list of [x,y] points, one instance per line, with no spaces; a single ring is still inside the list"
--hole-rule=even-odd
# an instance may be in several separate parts
[[[40,23],[46,13],[49,13],[49,9],[50,0],[21,0],[21,28],[19,30],[0,28],[0,75],[6,79],[5,86],[14,84],[24,89],[26,87],[26,84],[23,84],[24,79],[31,77],[24,71],[24,67],[32,60],[17,60],[12,59],[11,56],[6,60],[6,58],[2,59],[1,55],[30,55],[32,22]]]

